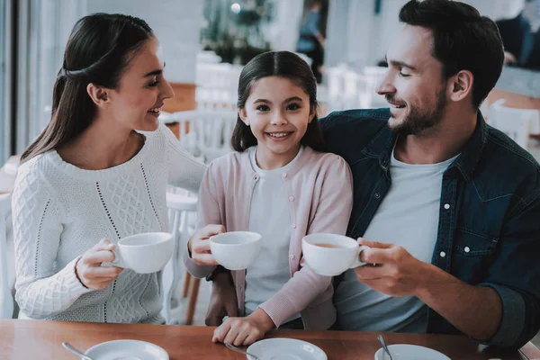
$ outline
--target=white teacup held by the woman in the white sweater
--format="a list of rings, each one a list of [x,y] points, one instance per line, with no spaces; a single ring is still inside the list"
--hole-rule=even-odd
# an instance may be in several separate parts
[[[173,255],[175,241],[168,232],[146,232],[121,238],[116,245],[114,261],[103,266],[118,266],[139,274],[156,273]]]

